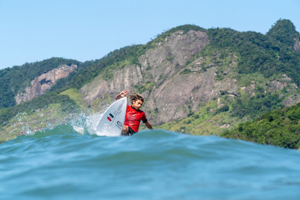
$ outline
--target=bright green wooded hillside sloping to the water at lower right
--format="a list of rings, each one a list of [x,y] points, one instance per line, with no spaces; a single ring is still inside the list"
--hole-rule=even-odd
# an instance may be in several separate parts
[[[300,103],[267,112],[253,122],[241,123],[220,136],[299,149]]]

